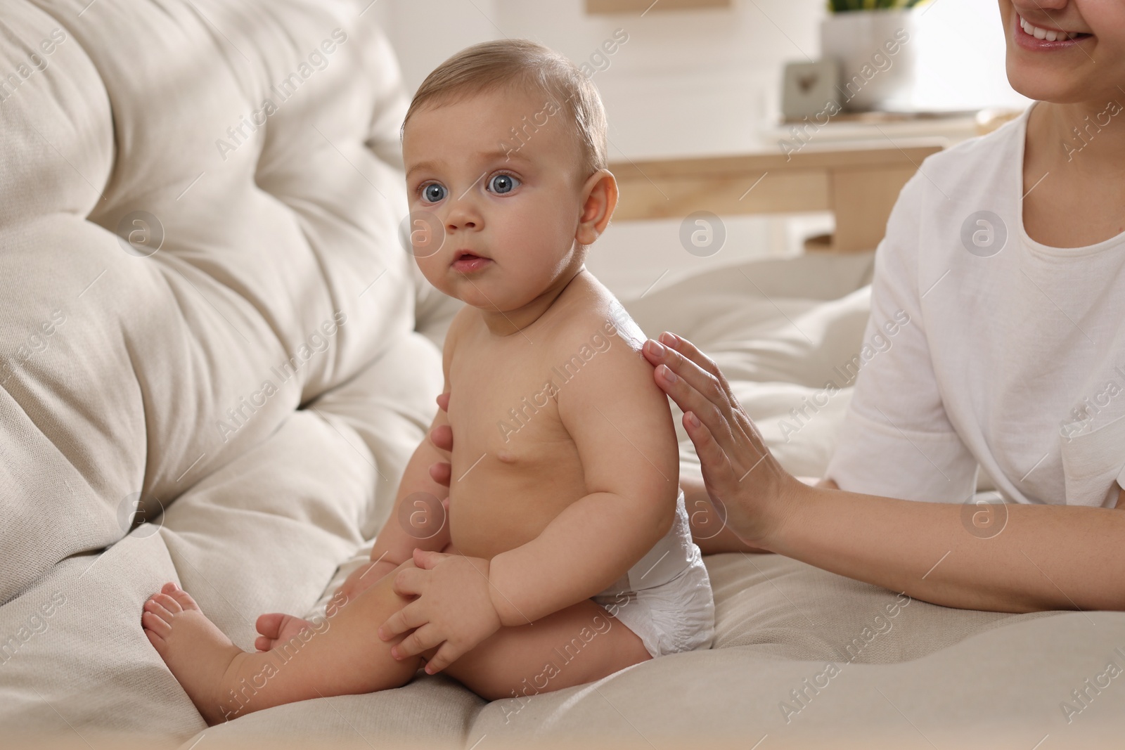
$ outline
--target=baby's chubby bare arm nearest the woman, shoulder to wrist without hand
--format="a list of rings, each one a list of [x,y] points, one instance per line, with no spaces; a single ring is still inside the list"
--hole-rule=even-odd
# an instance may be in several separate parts
[[[612,585],[672,527],[680,451],[667,397],[624,337],[559,390],[559,416],[582,459],[586,495],[534,540],[494,557],[489,593],[504,625],[522,625]]]

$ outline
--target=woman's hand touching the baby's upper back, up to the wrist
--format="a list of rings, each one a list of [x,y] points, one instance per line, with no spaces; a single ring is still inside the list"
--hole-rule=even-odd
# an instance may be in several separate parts
[[[771,549],[794,490],[803,485],[765,446],[710,358],[670,333],[662,334],[660,342],[645,342],[644,353],[656,367],[656,385],[684,412],[703,484],[716,505],[723,506],[727,526],[742,543]]]

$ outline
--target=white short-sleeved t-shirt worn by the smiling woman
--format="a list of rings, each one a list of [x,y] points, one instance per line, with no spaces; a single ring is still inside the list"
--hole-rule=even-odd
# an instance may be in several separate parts
[[[1125,484],[1125,234],[1027,236],[1029,111],[902,188],[826,472],[842,489],[963,503],[979,464],[1008,501],[1113,506]]]

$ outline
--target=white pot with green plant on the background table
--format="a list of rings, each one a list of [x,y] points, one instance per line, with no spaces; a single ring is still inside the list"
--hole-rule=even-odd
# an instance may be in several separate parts
[[[912,9],[926,0],[828,0],[820,53],[839,63],[848,111],[911,109],[917,60]]]

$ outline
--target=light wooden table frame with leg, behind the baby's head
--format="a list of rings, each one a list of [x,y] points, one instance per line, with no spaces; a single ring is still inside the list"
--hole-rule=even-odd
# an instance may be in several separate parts
[[[899,142],[846,150],[812,150],[610,164],[621,198],[614,220],[712,214],[832,211],[828,250],[873,250],[882,240],[902,186],[944,142]]]

